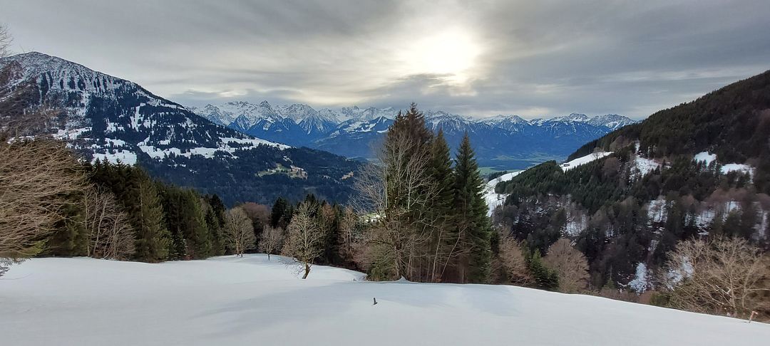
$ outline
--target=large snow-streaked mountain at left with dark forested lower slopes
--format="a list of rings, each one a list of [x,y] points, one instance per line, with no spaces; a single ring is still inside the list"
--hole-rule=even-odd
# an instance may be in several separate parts
[[[351,172],[360,167],[329,152],[245,135],[136,83],[42,53],[0,59],[0,101],[12,97],[27,108],[61,109],[65,116],[50,131],[85,159],[139,163],[156,178],[216,193],[228,205],[308,193],[346,201]]]

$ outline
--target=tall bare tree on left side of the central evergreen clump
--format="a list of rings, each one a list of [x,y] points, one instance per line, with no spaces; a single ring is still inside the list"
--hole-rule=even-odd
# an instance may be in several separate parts
[[[421,211],[437,196],[438,188],[427,171],[430,153],[414,147],[406,134],[393,135],[377,151],[379,163],[363,168],[356,181],[357,208],[368,215],[367,243],[373,246],[369,261],[396,278],[410,278],[418,263],[431,261],[423,258],[431,252],[420,249],[427,246],[436,220]]]

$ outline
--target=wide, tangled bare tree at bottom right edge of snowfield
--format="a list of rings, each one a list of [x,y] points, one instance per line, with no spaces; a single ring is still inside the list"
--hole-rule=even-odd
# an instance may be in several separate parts
[[[766,304],[768,259],[741,238],[681,241],[661,278],[674,308],[748,318]]]

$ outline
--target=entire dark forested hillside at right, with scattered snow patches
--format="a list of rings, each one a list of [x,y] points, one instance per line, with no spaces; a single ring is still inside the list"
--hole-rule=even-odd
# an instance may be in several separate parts
[[[658,111],[497,185],[506,232],[545,251],[560,236],[588,258],[591,284],[655,288],[677,241],[770,238],[770,72]]]

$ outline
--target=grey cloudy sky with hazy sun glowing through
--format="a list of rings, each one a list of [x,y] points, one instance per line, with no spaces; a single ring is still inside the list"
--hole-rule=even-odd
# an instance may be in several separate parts
[[[0,0],[0,23],[196,106],[645,118],[770,69],[768,0]]]

